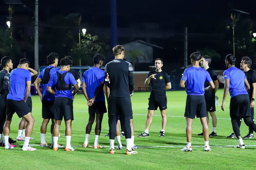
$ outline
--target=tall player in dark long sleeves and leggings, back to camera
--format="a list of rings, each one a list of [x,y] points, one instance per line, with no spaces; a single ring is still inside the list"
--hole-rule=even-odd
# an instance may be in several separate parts
[[[124,133],[126,139],[126,154],[137,154],[132,151],[131,125],[132,116],[131,95],[133,94],[133,68],[132,64],[124,61],[124,47],[117,45],[113,48],[115,59],[105,66],[106,84],[110,89],[108,102],[109,109],[109,141],[110,154],[114,154],[114,139],[116,137],[116,124],[118,114],[124,121]]]

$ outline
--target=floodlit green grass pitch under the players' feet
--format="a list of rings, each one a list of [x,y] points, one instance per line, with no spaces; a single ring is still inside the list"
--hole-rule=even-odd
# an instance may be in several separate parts
[[[64,148],[54,152],[51,148],[40,148],[34,146],[37,151],[22,151],[22,141],[17,141],[18,145],[14,150],[4,150],[0,148],[1,169],[255,169],[254,160],[256,158],[256,140],[244,140],[246,148],[244,150],[234,148],[238,144],[237,139],[227,139],[226,136],[232,132],[229,117],[229,101],[226,100],[225,112],[221,110],[223,89],[218,90],[219,106],[217,106],[217,137],[210,138],[212,151],[204,152],[203,136],[197,136],[202,132],[199,119],[193,122],[192,148],[193,152],[182,152],[186,144],[185,134],[185,91],[167,92],[167,127],[166,136],[158,137],[161,131],[161,115],[159,110],[155,112],[153,123],[150,127],[150,137],[137,137],[145,129],[149,92],[135,92],[132,97],[133,121],[135,128],[135,144],[140,148],[136,155],[125,155],[125,149],[116,150],[116,154],[109,154],[109,138],[104,135],[108,132],[108,115],[105,114],[102,122],[101,136],[99,144],[105,146],[103,149],[94,149],[94,127],[92,129],[89,148],[83,148],[85,127],[88,121],[88,107],[85,105],[85,98],[78,94],[74,100],[74,121],[72,122],[71,145],[76,151],[65,152]],[[31,145],[40,144],[41,102],[38,96],[32,96],[33,116],[35,125],[32,133],[34,140]],[[19,118],[15,114],[11,123],[10,137],[16,138],[18,132]],[[211,122],[211,120],[210,120]],[[95,124],[94,124],[95,125]],[[64,136],[65,124],[61,125],[59,143],[65,144]],[[210,132],[212,126],[209,126]],[[241,135],[248,133],[248,127],[242,122]],[[46,142],[50,143],[50,124],[46,134]],[[121,137],[125,145],[125,137]],[[253,167],[252,167],[253,166]]]

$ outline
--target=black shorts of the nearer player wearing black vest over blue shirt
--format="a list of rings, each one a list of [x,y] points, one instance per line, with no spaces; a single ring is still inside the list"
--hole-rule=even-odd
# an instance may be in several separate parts
[[[73,116],[73,102],[72,99],[67,97],[56,97],[54,101],[55,120],[74,120]]]

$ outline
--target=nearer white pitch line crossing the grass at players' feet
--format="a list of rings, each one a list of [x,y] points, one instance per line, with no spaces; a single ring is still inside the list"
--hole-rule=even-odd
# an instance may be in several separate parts
[[[19,146],[23,146],[23,144],[19,144]],[[30,146],[40,146],[38,144],[32,144]],[[123,145],[125,146],[125,145]],[[184,145],[185,146],[185,145]],[[184,146],[139,146],[139,148],[182,148]],[[210,145],[211,147],[220,147],[220,148],[226,148],[226,147],[236,147],[237,145]],[[245,145],[246,147],[256,147],[256,145]],[[82,145],[72,145],[72,147],[82,147]],[[93,146],[89,146],[90,148],[93,148]],[[102,146],[102,147],[109,147],[109,146]],[[192,147],[204,147],[202,146],[192,146]]]

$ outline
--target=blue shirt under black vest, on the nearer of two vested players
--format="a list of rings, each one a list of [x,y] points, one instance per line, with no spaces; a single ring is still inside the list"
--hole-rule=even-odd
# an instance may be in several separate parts
[[[65,73],[66,71],[58,71],[60,74]],[[48,86],[53,87],[55,84],[57,84],[57,73],[54,72],[49,80]],[[64,78],[65,83],[72,84],[73,86],[77,84],[74,76],[71,73],[67,73]],[[57,90],[55,91],[55,97],[67,97],[72,99],[72,91],[71,90]]]

